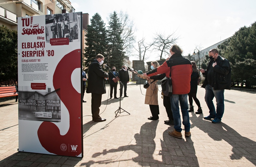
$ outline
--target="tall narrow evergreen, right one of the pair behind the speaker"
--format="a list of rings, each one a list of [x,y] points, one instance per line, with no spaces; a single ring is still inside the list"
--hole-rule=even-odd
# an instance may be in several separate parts
[[[117,17],[116,12],[110,16],[108,31],[107,31],[107,54],[108,60],[107,65],[109,67],[115,66],[116,69],[121,69],[123,60],[125,58],[125,52],[122,48],[123,40],[121,38],[122,28],[121,22]]]

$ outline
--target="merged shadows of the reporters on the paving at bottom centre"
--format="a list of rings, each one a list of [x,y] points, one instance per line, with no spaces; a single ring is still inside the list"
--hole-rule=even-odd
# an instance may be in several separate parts
[[[199,166],[193,141],[190,138],[180,140],[170,136],[168,131],[172,130],[173,127],[168,127],[163,132],[163,140],[155,139],[158,122],[157,120],[143,124],[140,128],[140,133],[134,135],[136,144],[119,146],[117,149],[104,149],[102,152],[94,153],[92,157],[105,160],[90,160],[80,165],[90,167],[95,164],[129,163],[129,161],[133,161],[140,166],[152,166],[153,164]],[[160,145],[157,145],[158,143]],[[120,154],[115,154],[117,152],[120,152]],[[106,156],[106,154],[109,155]],[[132,154],[134,157],[127,158],[127,156],[122,156],[123,154]]]

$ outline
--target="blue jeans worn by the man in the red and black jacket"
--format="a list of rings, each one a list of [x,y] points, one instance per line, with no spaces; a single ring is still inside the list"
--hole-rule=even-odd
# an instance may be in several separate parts
[[[190,122],[189,122],[189,114],[188,114],[188,104],[187,104],[187,94],[177,95],[172,94],[170,97],[171,99],[171,106],[172,106],[172,115],[174,120],[174,129],[177,132],[181,132],[181,115],[180,115],[180,108],[179,102],[181,105],[181,114],[182,114],[182,124],[185,127],[185,132],[190,131]]]

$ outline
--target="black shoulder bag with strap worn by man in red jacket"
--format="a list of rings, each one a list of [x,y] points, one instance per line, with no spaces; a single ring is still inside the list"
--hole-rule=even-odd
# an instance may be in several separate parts
[[[171,70],[172,70],[172,61],[171,61],[171,64],[170,64],[169,78],[164,77],[160,81],[160,84],[161,84],[161,87],[162,87],[162,93],[163,93],[164,96],[172,96],[172,74],[171,74]]]

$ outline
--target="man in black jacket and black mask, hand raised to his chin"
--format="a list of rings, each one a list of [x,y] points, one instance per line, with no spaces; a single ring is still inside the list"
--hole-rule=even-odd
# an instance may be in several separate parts
[[[209,116],[204,119],[212,120],[212,123],[221,122],[224,113],[224,90],[231,88],[231,68],[229,61],[219,56],[217,49],[209,51],[210,61],[207,69],[199,69],[205,75],[205,82],[202,88],[205,88],[205,102],[209,108]],[[217,107],[215,110],[213,98],[215,96]]]

